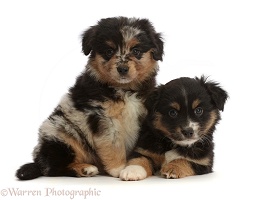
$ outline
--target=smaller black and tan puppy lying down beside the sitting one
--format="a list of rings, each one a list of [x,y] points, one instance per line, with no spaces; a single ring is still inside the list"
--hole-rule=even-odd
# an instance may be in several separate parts
[[[212,172],[213,132],[228,98],[205,77],[159,86],[146,101],[148,115],[122,180],[142,180],[160,170],[166,178]]]

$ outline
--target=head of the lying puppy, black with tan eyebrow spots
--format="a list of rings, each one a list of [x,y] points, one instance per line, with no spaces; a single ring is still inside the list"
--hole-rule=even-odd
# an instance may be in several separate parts
[[[212,135],[227,98],[226,91],[204,77],[179,78],[158,87],[146,106],[156,129],[174,143],[190,146]]]

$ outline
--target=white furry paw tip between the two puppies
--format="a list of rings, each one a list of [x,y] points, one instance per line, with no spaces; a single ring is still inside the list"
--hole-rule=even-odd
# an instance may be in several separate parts
[[[120,179],[124,181],[138,181],[147,177],[144,167],[139,165],[129,165],[120,173]]]

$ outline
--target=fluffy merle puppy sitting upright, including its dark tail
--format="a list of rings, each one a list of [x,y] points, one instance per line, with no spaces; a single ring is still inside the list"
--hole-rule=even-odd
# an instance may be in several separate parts
[[[16,172],[39,176],[118,177],[134,148],[144,100],[155,87],[161,35],[147,19],[106,18],[82,35],[85,71],[39,129],[33,163]]]

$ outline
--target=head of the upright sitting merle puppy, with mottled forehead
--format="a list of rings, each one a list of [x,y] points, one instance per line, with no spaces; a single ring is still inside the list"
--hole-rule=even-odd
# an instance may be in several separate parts
[[[135,84],[156,75],[163,42],[147,19],[106,18],[84,32],[82,50],[98,81]]]

